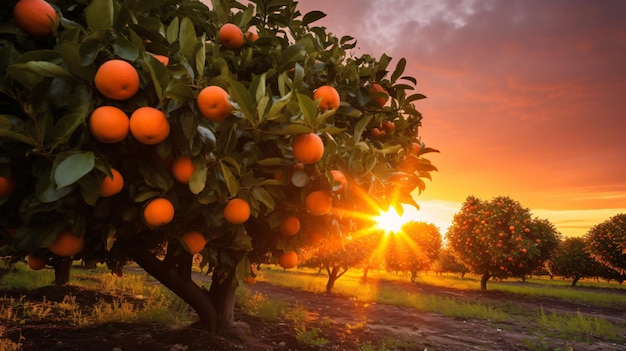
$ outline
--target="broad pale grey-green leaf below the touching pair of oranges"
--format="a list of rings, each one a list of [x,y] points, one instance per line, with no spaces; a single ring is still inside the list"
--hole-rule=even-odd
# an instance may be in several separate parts
[[[59,161],[57,161],[59,160]],[[68,151],[57,156],[53,169],[54,182],[58,189],[74,184],[91,172],[96,157],[91,151]]]

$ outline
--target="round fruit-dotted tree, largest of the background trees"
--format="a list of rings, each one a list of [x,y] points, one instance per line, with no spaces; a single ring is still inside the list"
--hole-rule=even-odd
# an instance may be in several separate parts
[[[524,277],[539,267],[558,244],[560,234],[547,220],[509,197],[483,201],[469,196],[446,233],[448,246],[487,289],[491,277]]]

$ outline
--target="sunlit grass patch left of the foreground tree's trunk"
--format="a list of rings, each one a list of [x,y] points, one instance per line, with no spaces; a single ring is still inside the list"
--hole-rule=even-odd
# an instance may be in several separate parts
[[[0,288],[33,290],[49,286],[54,280],[52,270],[32,271],[23,264],[0,279]],[[127,273],[117,277],[105,269],[85,271],[72,269],[74,285],[108,291],[120,297],[99,300],[93,306],[80,306],[76,296],[66,295],[60,302],[0,297],[0,319],[7,321],[41,321],[63,318],[75,326],[106,322],[178,324],[190,320],[187,305],[165,288],[146,284],[145,274]],[[132,301],[124,296],[132,297]],[[0,348],[1,349],[1,348]]]

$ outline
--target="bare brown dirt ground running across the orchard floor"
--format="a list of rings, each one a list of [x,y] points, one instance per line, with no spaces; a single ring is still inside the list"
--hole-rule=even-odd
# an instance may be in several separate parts
[[[393,284],[398,289],[450,296],[468,302],[511,302],[532,311],[543,306],[546,313],[579,311],[585,316],[602,317],[626,326],[626,311],[623,306],[598,308],[550,298],[520,299],[515,295],[496,291],[461,291],[398,282],[379,284]],[[626,350],[626,344],[618,345],[593,337],[589,342],[573,343],[551,339],[546,335],[532,335],[530,329],[534,328],[514,321],[492,323],[455,319],[437,313],[358,302],[345,296],[285,289],[263,282],[249,286],[248,289],[305,308],[309,315],[306,329],[318,328],[318,336],[327,339],[328,343],[321,347],[298,344],[294,326],[289,320],[265,322],[240,310],[236,311],[238,326],[242,331],[238,338],[227,339],[192,327],[172,329],[164,325],[109,323],[79,328],[61,325],[54,318],[36,324],[0,320],[0,337],[20,340],[20,350],[25,351]],[[100,299],[106,301],[119,298],[71,285],[49,286],[32,291],[0,290],[0,297],[26,298],[29,301],[41,301],[44,297],[48,301],[62,301],[68,294],[76,296],[77,303],[85,308],[93,306]],[[131,300],[132,297],[126,299]]]

